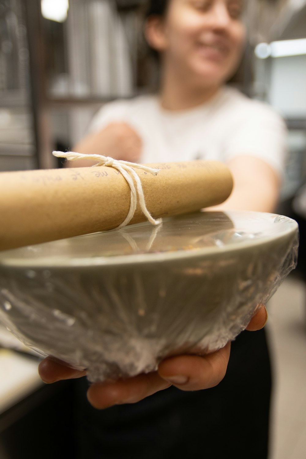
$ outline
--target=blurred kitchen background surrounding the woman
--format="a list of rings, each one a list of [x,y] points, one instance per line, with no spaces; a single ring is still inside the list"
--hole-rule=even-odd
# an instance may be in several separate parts
[[[72,148],[103,103],[154,88],[158,76],[142,37],[143,3],[0,0],[0,171],[61,167],[51,151]],[[305,459],[306,0],[251,0],[246,21],[246,56],[232,84],[269,102],[287,123],[278,212],[296,218],[301,230],[299,269],[270,305],[276,389],[270,457]],[[11,337],[2,333],[2,346],[10,347]],[[0,459],[36,457],[8,445],[13,438],[26,442],[41,407],[68,403],[69,385],[41,386],[36,369],[36,357],[0,349]],[[66,414],[58,415],[69,438]]]

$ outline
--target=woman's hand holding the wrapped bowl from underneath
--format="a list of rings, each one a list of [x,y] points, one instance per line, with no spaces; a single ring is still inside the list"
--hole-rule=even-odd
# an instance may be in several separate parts
[[[266,325],[267,311],[261,305],[251,319],[247,330],[260,330]],[[206,355],[182,355],[166,358],[158,370],[119,381],[92,384],[87,392],[89,402],[97,409],[112,405],[139,402],[155,392],[176,386],[184,391],[197,391],[217,386],[225,376],[230,354],[230,343],[217,352]],[[45,358],[39,364],[39,375],[46,383],[80,378],[85,371],[77,371]]]

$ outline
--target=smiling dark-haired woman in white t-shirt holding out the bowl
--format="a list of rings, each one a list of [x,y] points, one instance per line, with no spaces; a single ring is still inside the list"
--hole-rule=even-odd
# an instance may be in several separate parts
[[[243,9],[242,0],[152,0],[145,36],[160,58],[159,94],[106,105],[74,150],[139,162],[219,159],[235,182],[223,209],[273,211],[284,124],[225,86],[244,49]],[[248,329],[266,320],[261,307]],[[88,431],[87,457],[266,458],[271,378],[264,332],[237,338],[227,374],[213,387],[229,352],[230,343],[209,356],[167,359],[150,375],[90,386],[94,407],[123,406],[89,409],[83,430],[86,423],[103,429]],[[50,382],[82,374],[46,359],[40,375]],[[199,389],[208,390],[192,392]]]

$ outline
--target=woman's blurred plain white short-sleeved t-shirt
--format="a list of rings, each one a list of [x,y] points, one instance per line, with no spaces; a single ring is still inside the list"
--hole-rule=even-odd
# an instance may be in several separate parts
[[[142,139],[142,163],[228,162],[235,156],[252,155],[280,175],[284,170],[286,127],[282,118],[266,104],[227,86],[209,102],[184,111],[164,110],[155,95],[111,102],[98,111],[90,131],[120,121]]]

